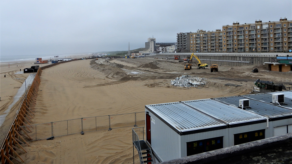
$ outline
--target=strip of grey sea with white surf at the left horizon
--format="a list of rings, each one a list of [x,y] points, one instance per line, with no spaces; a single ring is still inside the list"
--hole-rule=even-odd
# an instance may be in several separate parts
[[[88,56],[88,53],[72,53],[72,54],[57,54],[57,55],[0,55],[0,63],[2,62],[22,62],[36,60],[36,58],[42,58],[43,60],[54,59],[56,56],[58,58],[74,58],[76,56]]]

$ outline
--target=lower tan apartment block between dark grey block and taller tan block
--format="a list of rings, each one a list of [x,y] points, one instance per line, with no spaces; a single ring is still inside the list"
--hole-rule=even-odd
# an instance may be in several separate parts
[[[190,52],[218,52],[220,37],[222,43],[221,30],[204,31],[197,30],[197,32],[190,33]]]

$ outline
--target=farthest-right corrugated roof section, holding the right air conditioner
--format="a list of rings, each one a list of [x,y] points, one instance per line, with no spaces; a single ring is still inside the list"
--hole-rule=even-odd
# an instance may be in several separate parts
[[[260,100],[260,101],[264,101],[266,103],[272,104],[272,94],[267,94],[267,93],[265,93],[265,94],[251,94],[251,95],[243,95],[242,97],[252,98],[254,100]],[[278,105],[278,104],[276,104],[276,105]],[[292,109],[292,99],[284,96],[284,103],[282,103],[281,106],[288,107],[288,108]]]

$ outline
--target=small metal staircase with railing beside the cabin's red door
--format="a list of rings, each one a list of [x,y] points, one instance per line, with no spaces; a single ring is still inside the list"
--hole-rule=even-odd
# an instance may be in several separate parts
[[[144,140],[144,127],[132,128],[133,130],[133,145],[138,150],[140,164],[152,164],[152,150]],[[134,150],[133,150],[134,151]],[[134,152],[133,152],[134,156]]]

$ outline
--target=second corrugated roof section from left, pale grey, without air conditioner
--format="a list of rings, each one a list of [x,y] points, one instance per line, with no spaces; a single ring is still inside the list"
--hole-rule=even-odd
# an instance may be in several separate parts
[[[226,105],[211,99],[184,101],[183,103],[203,111],[212,117],[223,120],[228,124],[265,119],[263,116],[246,112],[237,107]]]

